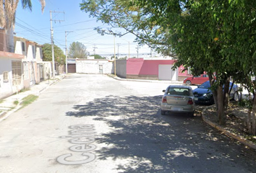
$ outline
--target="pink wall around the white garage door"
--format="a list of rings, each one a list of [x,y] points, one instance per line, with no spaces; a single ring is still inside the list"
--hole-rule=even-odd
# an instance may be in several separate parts
[[[127,60],[127,74],[158,75],[159,64],[174,64],[174,60],[143,60],[143,58],[129,58]]]

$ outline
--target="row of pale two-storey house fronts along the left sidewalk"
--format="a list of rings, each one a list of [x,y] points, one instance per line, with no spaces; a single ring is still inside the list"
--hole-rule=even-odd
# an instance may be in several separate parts
[[[51,62],[43,61],[42,45],[14,36],[14,53],[9,53],[6,38],[0,28],[0,99],[52,76]]]

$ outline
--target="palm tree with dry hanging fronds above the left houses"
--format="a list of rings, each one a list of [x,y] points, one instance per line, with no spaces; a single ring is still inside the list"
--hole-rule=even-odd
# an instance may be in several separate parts
[[[17,10],[17,5],[19,4],[19,0],[2,0],[0,6],[0,27],[3,27],[6,35],[7,35],[7,49],[9,52],[14,53],[14,25],[15,25],[15,14]],[[46,5],[45,0],[40,0],[40,4],[42,6],[42,12],[44,6]],[[23,9],[29,8],[32,10],[31,0],[22,0]]]

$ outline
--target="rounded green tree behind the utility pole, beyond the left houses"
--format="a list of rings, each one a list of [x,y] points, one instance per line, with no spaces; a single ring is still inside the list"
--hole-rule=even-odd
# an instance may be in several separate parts
[[[45,43],[43,44],[43,61],[52,61],[52,50],[51,44]],[[54,61],[59,64],[64,64],[66,62],[66,56],[64,55],[61,48],[57,45],[54,45]]]

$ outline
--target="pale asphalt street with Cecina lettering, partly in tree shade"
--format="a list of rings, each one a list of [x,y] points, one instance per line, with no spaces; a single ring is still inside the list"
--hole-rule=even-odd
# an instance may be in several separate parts
[[[200,116],[161,115],[167,84],[74,74],[0,123],[0,172],[255,172]]]

